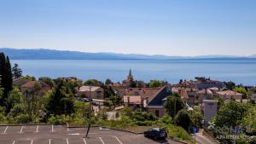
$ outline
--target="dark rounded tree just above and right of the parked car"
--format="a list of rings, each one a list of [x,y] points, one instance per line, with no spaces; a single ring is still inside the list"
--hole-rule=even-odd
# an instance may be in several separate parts
[[[185,109],[182,109],[177,112],[177,115],[174,118],[174,123],[178,126],[183,127],[184,130],[189,130],[189,125],[191,124],[191,119],[189,117],[189,112]]]

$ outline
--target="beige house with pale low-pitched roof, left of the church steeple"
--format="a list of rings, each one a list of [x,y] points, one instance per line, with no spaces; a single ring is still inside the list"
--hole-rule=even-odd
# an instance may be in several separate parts
[[[78,95],[84,98],[91,98],[91,99],[104,99],[104,89],[101,87],[96,86],[81,86],[78,91]]]

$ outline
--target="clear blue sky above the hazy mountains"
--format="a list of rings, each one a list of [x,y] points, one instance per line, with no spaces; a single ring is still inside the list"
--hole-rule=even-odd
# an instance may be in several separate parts
[[[256,54],[255,0],[0,0],[0,47]]]

